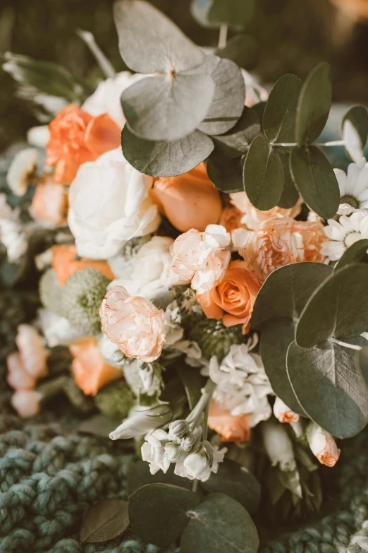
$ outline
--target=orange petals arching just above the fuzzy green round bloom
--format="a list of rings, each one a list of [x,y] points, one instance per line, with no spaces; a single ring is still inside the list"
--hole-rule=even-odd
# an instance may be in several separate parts
[[[68,246],[67,244],[63,244],[62,246],[52,246],[51,251],[52,268],[56,273],[60,286],[63,286],[70,275],[73,275],[73,273],[77,270],[87,268],[99,270],[100,273],[111,280],[114,278],[114,273],[111,271],[111,268],[106,261],[96,261],[85,257],[76,259],[77,250],[75,246]]]

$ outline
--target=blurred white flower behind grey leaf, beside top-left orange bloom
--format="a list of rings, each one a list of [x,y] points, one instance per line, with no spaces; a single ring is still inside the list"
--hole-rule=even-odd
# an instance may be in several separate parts
[[[82,109],[94,117],[107,113],[123,129],[126,119],[121,107],[121,94],[125,88],[144,77],[146,75],[140,73],[121,71],[114,78],[107,78],[106,81],[99,83],[92,96],[85,100]]]

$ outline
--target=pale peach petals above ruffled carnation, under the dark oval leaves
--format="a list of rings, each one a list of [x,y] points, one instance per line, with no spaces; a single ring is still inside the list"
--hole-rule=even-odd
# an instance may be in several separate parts
[[[262,222],[273,217],[290,217],[294,219],[302,210],[302,198],[295,203],[293,208],[283,209],[275,206],[268,211],[261,211],[254,208],[245,192],[233,192],[233,194],[230,194],[230,198],[233,206],[238,208],[238,210],[243,213],[240,222],[249,230],[257,230]],[[238,225],[238,227],[241,227],[242,225]]]

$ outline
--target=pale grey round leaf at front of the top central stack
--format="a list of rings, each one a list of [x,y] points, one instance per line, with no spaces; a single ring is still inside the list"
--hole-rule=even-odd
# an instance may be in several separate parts
[[[125,89],[121,105],[139,138],[175,141],[195,131],[206,117],[214,90],[214,81],[206,75],[152,76]]]

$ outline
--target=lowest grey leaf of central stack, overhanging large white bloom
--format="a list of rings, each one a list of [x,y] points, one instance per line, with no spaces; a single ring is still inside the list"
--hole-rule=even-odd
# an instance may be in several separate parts
[[[211,138],[201,131],[172,142],[138,138],[125,124],[121,147],[126,160],[141,173],[153,177],[175,177],[196,167],[214,149]]]

